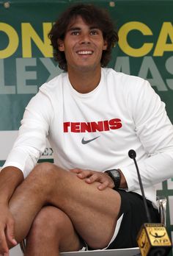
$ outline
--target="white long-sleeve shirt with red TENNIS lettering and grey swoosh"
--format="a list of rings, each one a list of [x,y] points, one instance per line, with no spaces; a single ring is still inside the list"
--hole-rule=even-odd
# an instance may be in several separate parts
[[[140,193],[128,157],[134,149],[145,195],[152,202],[153,185],[173,177],[173,127],[165,104],[146,80],[111,68],[102,68],[100,83],[90,93],[78,93],[67,73],[42,85],[26,107],[4,167],[18,167],[26,177],[43,153],[46,137],[58,166],[120,168],[128,191]]]

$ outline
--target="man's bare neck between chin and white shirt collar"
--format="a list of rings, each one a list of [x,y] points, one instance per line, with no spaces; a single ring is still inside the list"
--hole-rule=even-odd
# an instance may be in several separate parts
[[[93,71],[68,71],[71,85],[78,93],[89,93],[94,90],[100,82],[101,69]]]

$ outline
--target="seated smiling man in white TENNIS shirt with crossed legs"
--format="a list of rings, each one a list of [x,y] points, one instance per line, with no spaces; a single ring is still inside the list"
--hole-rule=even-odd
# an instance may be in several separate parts
[[[172,177],[173,164],[164,104],[144,79],[102,68],[118,40],[103,10],[70,7],[49,37],[67,72],[29,102],[1,171],[0,252],[8,255],[26,236],[25,255],[32,256],[136,246],[147,216],[128,151],[136,150],[158,222],[153,185]],[[54,164],[37,164],[46,137]]]

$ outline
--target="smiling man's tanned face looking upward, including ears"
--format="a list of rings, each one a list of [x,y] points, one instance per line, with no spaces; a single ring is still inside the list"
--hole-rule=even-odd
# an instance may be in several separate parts
[[[101,30],[86,24],[81,16],[69,24],[65,40],[58,43],[59,51],[65,51],[68,72],[100,68],[102,52],[107,48]]]

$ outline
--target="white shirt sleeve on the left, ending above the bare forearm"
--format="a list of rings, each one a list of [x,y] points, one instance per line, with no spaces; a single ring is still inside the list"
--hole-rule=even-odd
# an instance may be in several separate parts
[[[26,177],[43,154],[54,112],[51,99],[39,91],[26,107],[14,146],[4,167],[15,166]]]

